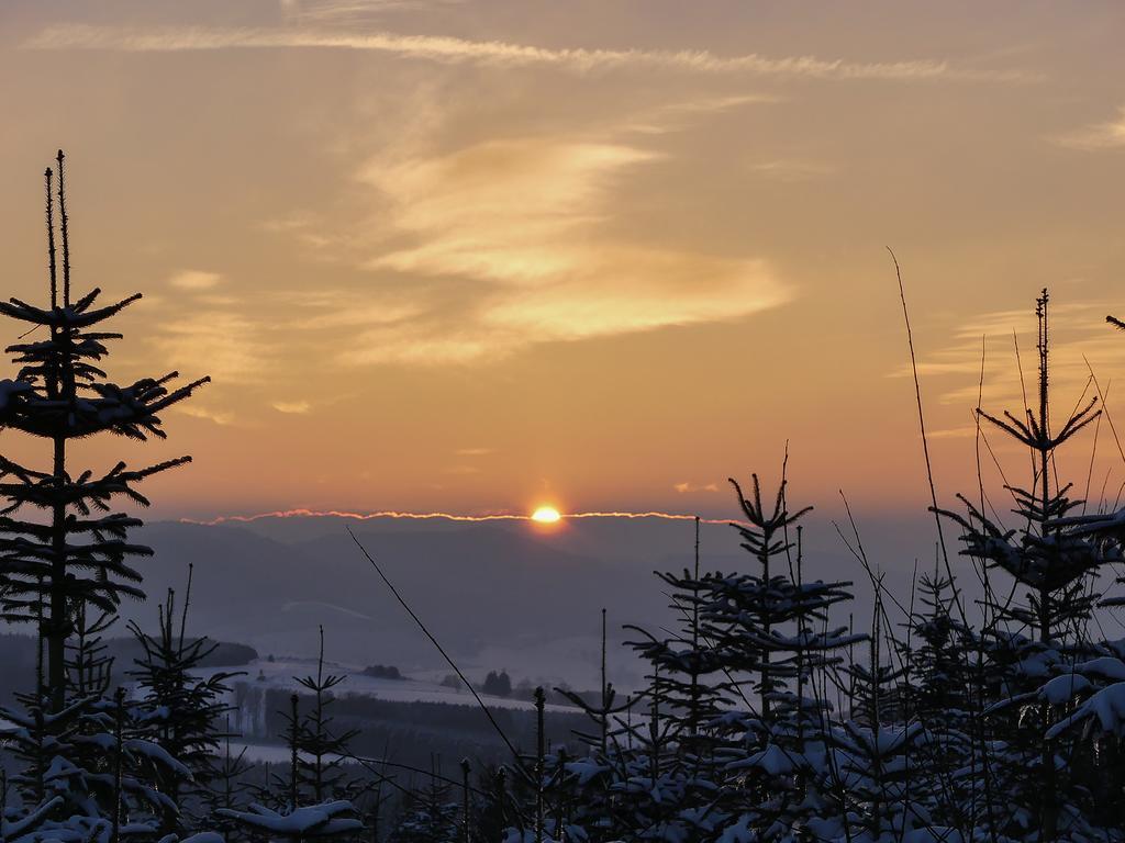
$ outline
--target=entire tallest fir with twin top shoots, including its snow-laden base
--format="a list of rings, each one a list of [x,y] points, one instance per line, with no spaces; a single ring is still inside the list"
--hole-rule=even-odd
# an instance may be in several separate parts
[[[97,288],[73,290],[62,152],[56,161],[45,173],[47,301],[0,302],[0,315],[24,328],[7,348],[19,369],[0,381],[0,425],[50,443],[44,468],[0,456],[3,617],[34,624],[43,653],[35,689],[2,714],[3,733],[27,762],[14,780],[35,833],[118,840],[151,835],[158,817],[176,813],[155,777],[186,768],[138,729],[123,695],[107,696],[99,638],[123,598],[144,597],[133,565],[152,553],[129,541],[141,520],[114,507],[146,506],[137,484],[190,457],[99,472],[75,468],[69,445],[101,434],[163,438],[160,414],[207,379],[174,387],[172,372],[120,386],[100,368],[108,343],[120,338],[102,324],[141,297],[99,306]]]

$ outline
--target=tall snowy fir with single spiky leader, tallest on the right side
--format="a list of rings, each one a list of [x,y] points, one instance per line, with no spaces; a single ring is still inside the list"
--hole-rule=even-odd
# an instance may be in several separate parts
[[[1071,516],[1083,501],[1056,471],[1063,445],[1094,422],[1097,398],[1078,406],[1055,425],[1051,415],[1050,298],[1036,301],[1038,371],[1034,408],[1002,417],[979,410],[996,429],[1020,443],[1030,456],[1032,477],[1008,491],[1018,526],[1006,527],[983,502],[958,496],[964,515],[940,514],[960,525],[962,555],[989,574],[1010,579],[989,588],[984,601],[981,692],[989,705],[980,725],[982,785],[991,794],[978,817],[990,833],[1043,841],[1081,840],[1099,833],[1091,790],[1080,774],[1082,747],[1055,727],[1089,685],[1078,665],[1098,655],[1087,622],[1098,600],[1100,568],[1119,562],[1120,549],[1076,528]]]

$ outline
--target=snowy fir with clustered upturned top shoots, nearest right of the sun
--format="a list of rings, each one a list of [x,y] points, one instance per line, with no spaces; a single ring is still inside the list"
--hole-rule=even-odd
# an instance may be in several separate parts
[[[735,740],[726,753],[745,794],[724,797],[740,833],[775,836],[821,810],[817,779],[828,711],[813,680],[863,636],[830,617],[850,600],[850,582],[803,578],[796,522],[811,507],[790,511],[784,468],[772,508],[756,474],[749,497],[731,484],[745,518],[735,526],[755,568],[708,578],[703,609],[706,637],[742,703],[740,714],[727,716]]]

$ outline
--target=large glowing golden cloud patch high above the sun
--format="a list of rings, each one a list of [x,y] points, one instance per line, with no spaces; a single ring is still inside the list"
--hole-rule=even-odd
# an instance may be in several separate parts
[[[464,362],[532,343],[739,319],[789,300],[763,260],[613,230],[621,181],[660,160],[618,140],[560,137],[372,160],[361,180],[382,198],[387,225],[366,265],[433,285],[417,290],[415,318],[370,325],[343,360]]]

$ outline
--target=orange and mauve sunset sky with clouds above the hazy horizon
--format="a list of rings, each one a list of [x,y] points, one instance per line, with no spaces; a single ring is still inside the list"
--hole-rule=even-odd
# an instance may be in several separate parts
[[[3,290],[45,298],[62,146],[75,283],[145,293],[110,373],[214,378],[124,448],[195,455],[161,516],[729,516],[726,478],[775,478],[786,439],[800,499],[917,511],[888,246],[943,498],[975,488],[982,336],[983,404],[1016,409],[1042,287],[1059,414],[1083,354],[1125,375],[1123,27],[1116,2],[7,2]],[[1125,434],[1125,383],[1109,408]],[[1060,454],[1080,487],[1091,436]]]

